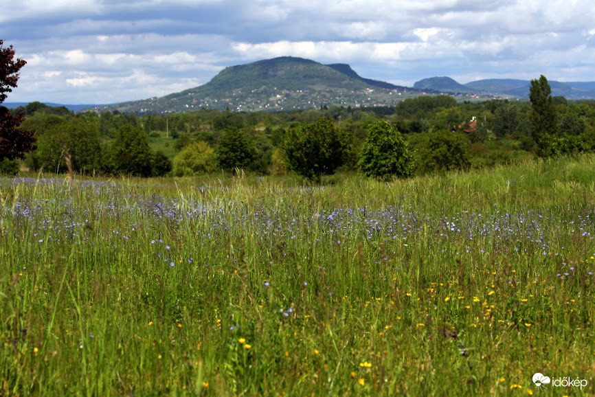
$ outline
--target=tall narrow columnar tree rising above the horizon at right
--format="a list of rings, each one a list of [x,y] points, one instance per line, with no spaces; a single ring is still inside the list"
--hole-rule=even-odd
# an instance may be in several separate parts
[[[556,109],[552,99],[552,88],[546,76],[531,80],[529,100],[532,105],[531,123],[533,139],[537,144],[537,155],[549,157],[558,152],[558,131]]]

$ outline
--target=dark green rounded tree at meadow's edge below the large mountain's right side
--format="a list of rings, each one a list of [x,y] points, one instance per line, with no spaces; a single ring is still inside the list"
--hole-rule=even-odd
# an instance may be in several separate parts
[[[283,145],[287,168],[315,181],[343,165],[348,147],[346,135],[325,118],[292,128]]]

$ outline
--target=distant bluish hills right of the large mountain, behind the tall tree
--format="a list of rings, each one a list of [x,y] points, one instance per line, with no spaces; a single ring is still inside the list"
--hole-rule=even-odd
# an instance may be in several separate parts
[[[569,100],[595,98],[595,82],[558,82],[550,80],[552,95],[563,96]],[[529,80],[485,79],[460,84],[448,77],[435,77],[420,80],[414,88],[434,89],[445,93],[476,93],[479,95],[504,95],[527,100],[529,98]],[[469,91],[465,91],[465,89]]]

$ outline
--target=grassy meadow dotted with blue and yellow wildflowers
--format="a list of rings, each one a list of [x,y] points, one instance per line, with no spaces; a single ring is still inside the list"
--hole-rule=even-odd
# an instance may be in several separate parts
[[[595,394],[594,171],[0,179],[0,395]]]

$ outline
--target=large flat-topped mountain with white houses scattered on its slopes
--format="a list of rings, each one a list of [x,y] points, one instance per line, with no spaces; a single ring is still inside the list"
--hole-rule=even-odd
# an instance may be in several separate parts
[[[291,111],[323,105],[394,106],[416,90],[361,78],[349,65],[322,65],[284,56],[226,67],[210,82],[161,98],[94,106],[98,111],[136,113],[192,109]]]

